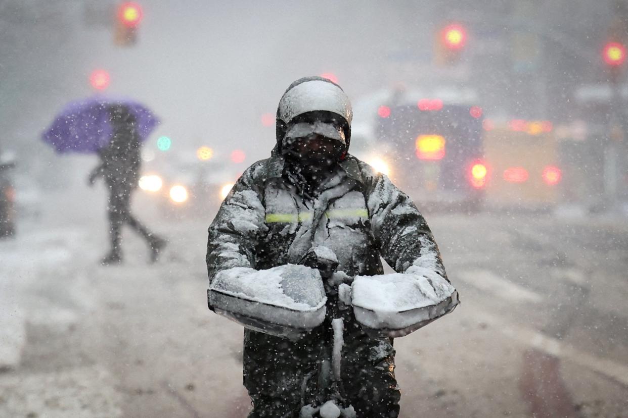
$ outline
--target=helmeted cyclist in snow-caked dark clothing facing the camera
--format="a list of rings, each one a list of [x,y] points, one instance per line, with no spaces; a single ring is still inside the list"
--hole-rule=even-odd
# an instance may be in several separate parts
[[[208,229],[210,283],[227,269],[306,264],[330,249],[347,277],[409,268],[447,280],[433,234],[409,197],[348,153],[352,110],[336,83],[296,80],[285,91],[269,159],[237,180]],[[342,390],[358,417],[397,417],[393,338],[370,337],[345,311]],[[315,399],[328,323],[297,340],[244,330],[249,417],[298,417]],[[304,394],[309,396],[304,400]]]

